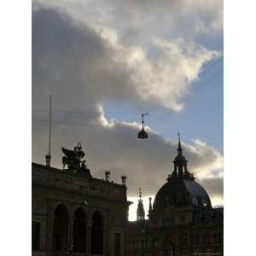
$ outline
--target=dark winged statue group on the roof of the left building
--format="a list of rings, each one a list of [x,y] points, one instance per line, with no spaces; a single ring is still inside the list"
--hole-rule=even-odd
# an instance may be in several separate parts
[[[67,148],[61,148],[61,150],[65,154],[62,157],[63,170],[67,165],[67,169],[70,171],[90,175],[90,170],[85,165],[86,160],[83,160],[85,153],[82,150],[81,143],[78,143],[73,150]]]

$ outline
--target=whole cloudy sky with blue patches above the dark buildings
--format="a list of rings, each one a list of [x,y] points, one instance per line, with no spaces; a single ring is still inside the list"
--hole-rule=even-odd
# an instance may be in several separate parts
[[[32,160],[45,162],[52,95],[52,165],[80,142],[94,177],[127,176],[131,220],[139,187],[147,211],[172,172],[178,131],[223,204],[223,57],[222,1],[33,1]]]

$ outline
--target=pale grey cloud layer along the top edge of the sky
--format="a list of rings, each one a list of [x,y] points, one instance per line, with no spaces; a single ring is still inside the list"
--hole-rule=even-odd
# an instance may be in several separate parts
[[[114,27],[125,42],[143,42],[154,35],[195,38],[223,30],[223,1],[215,0],[41,0],[65,9],[80,20]],[[154,24],[154,26],[152,26]]]

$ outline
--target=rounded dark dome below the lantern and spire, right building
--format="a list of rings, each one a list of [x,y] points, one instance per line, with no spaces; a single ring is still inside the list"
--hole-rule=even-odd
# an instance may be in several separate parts
[[[154,198],[153,210],[166,207],[211,208],[211,200],[205,189],[193,177],[169,177]]]

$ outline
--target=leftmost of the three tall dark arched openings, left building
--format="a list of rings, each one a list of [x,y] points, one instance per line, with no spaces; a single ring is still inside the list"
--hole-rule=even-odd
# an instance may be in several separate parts
[[[68,211],[63,205],[55,209],[53,250],[55,252],[68,251]]]

